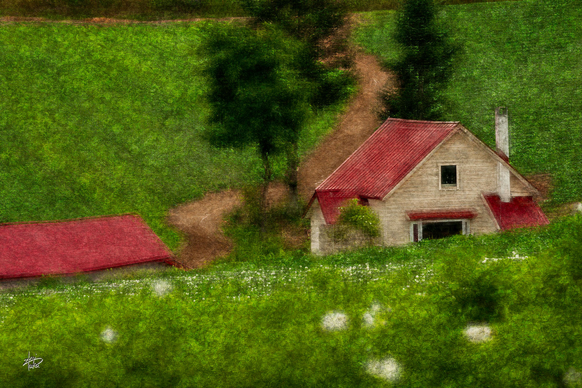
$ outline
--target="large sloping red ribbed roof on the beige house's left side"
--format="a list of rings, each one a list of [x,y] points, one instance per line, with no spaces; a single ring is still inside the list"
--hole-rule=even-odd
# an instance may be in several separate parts
[[[338,204],[348,198],[384,198],[438,144],[452,134],[458,124],[386,120],[315,188],[325,222],[335,222],[339,214]]]

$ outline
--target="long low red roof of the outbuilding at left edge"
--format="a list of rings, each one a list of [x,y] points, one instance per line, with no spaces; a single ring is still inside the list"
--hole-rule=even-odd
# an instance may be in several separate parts
[[[173,260],[139,215],[0,225],[0,279]]]

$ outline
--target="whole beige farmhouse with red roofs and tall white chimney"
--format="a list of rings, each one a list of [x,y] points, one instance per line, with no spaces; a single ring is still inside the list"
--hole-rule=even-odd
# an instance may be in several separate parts
[[[331,231],[352,198],[379,216],[383,245],[547,224],[540,193],[509,164],[506,109],[495,110],[495,137],[494,151],[459,122],[386,120],[315,188],[311,251],[342,247]]]

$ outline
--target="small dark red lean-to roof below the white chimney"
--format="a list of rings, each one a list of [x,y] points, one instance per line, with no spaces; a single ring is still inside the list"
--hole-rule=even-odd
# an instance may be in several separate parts
[[[499,195],[495,193],[484,193],[483,198],[502,230],[549,223],[548,218],[531,195],[511,197],[509,202],[502,202]]]

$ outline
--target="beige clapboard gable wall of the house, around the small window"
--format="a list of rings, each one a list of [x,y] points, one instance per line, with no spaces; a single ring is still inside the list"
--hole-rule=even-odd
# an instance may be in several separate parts
[[[497,161],[464,133],[456,133],[418,167],[406,181],[383,201],[370,200],[378,214],[386,245],[410,242],[410,220],[406,211],[439,208],[475,208],[477,216],[470,220],[470,233],[491,233],[497,230],[481,193],[497,191]],[[457,165],[457,190],[439,190],[439,165]],[[513,176],[513,175],[512,175]],[[511,181],[512,193],[525,193],[519,179]]]

